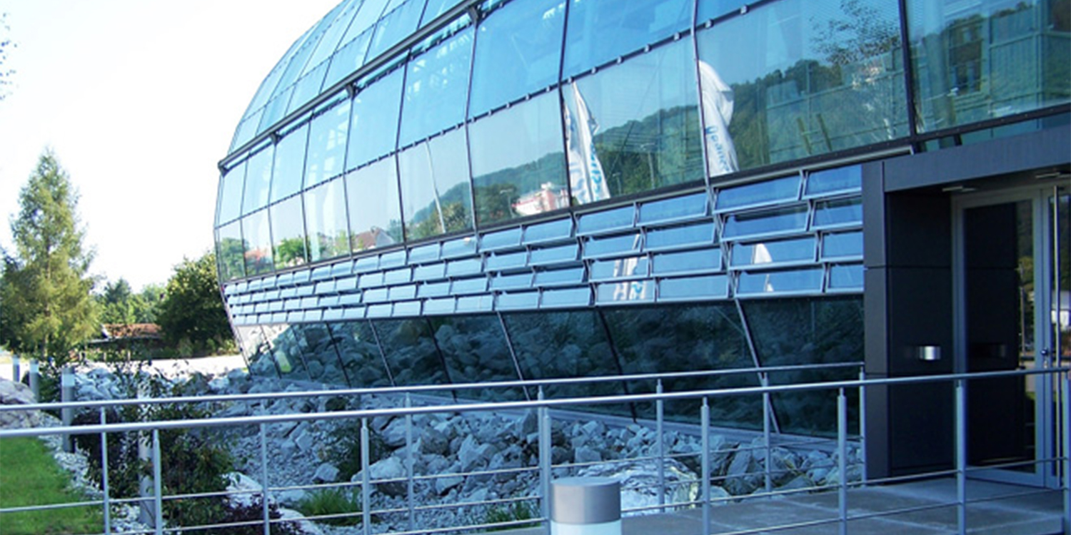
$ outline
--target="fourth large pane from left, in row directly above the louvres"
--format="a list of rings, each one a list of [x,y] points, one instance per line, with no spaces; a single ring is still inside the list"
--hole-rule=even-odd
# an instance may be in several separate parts
[[[316,262],[349,254],[345,194],[342,179],[305,192],[308,261]]]

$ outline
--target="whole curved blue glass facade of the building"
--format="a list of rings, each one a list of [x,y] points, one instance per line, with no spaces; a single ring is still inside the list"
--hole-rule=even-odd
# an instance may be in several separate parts
[[[1066,3],[902,3],[344,0],[221,164],[243,349],[351,385],[860,361],[859,164],[1071,103]]]

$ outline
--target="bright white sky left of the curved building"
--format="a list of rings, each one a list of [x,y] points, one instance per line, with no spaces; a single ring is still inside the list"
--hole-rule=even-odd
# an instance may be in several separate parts
[[[216,163],[260,81],[336,3],[0,0],[17,44],[0,101],[0,245],[51,147],[80,194],[91,272],[166,282],[212,247]]]

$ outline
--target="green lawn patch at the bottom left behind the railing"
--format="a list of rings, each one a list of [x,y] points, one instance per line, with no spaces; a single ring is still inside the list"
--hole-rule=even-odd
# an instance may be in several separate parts
[[[0,507],[80,502],[70,477],[37,439],[0,440]],[[101,533],[100,507],[69,507],[0,515],[3,535]]]

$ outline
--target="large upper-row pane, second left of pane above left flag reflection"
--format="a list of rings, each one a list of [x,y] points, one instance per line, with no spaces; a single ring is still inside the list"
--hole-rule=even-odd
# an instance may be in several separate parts
[[[399,147],[465,120],[471,57],[472,29],[469,28],[409,60]]]

